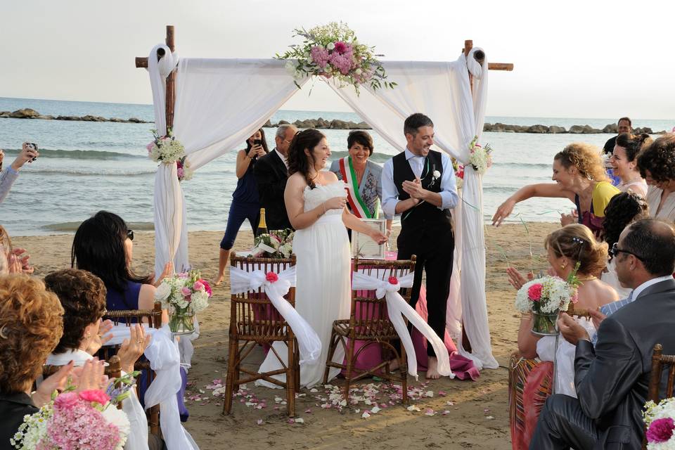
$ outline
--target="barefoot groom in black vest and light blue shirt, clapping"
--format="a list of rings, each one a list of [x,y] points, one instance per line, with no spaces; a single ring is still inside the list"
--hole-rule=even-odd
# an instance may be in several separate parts
[[[448,155],[430,149],[434,124],[429,117],[411,115],[404,122],[403,132],[406,151],[385,162],[382,171],[382,209],[391,216],[401,214],[397,258],[417,256],[411,307],[420,297],[425,271],[428,323],[443,340],[455,248],[450,210],[459,200],[455,176]],[[427,354],[427,378],[439,378],[438,359],[431,345]]]

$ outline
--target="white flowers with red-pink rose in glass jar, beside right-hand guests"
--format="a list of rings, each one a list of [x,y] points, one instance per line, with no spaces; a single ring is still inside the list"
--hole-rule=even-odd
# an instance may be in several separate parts
[[[528,281],[515,295],[515,309],[520,312],[532,312],[532,333],[539,335],[556,335],[558,328],[556,321],[560,311],[567,311],[570,302],[577,302],[577,287],[579,279],[577,270],[567,278],[567,281],[558,276],[544,276]]]

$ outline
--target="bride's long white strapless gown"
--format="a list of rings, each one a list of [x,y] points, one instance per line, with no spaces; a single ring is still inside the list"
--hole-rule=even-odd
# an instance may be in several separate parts
[[[342,181],[317,185],[304,190],[304,211],[313,210],[324,201],[333,197],[346,197]],[[306,229],[297,230],[293,238],[293,252],[297,257],[295,309],[314,328],[321,339],[321,356],[313,364],[300,366],[300,385],[312,387],[323,381],[323,371],[328,359],[328,345],[333,321],[349,319],[351,304],[351,251],[347,229],[342,223],[341,210],[329,210]],[[286,346],[275,342],[274,348],[283,359],[288,355]],[[338,344],[333,361],[342,363],[345,351]],[[284,361],[286,362],[286,361]],[[262,362],[259,372],[274,371],[281,368],[281,364],[269,352]],[[332,368],[328,380],[335,378],[340,369]],[[275,375],[274,378],[285,381],[285,375]],[[278,387],[263,380],[257,380],[257,385]]]

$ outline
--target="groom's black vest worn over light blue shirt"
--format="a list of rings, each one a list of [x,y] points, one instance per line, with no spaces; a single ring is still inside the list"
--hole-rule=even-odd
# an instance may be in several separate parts
[[[394,156],[394,185],[399,191],[399,200],[407,200],[410,195],[403,190],[404,181],[413,181],[416,177],[411,169],[406,153],[401,152]],[[433,180],[434,172],[440,176]],[[441,191],[441,179],[443,176],[443,164],[441,153],[430,150],[422,168],[420,181],[422,187],[432,192]],[[452,229],[450,210],[439,210],[431,203],[418,203],[416,207],[401,213],[401,234],[411,231],[428,231],[430,233],[449,231]]]

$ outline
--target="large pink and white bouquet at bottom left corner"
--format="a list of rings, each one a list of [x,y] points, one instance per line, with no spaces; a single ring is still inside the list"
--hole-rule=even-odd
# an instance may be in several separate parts
[[[72,390],[55,392],[52,401],[25,416],[10,439],[14,448],[121,450],[130,431],[124,411],[102,390]]]

